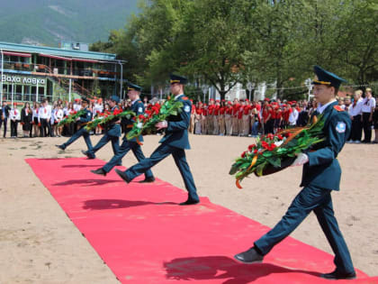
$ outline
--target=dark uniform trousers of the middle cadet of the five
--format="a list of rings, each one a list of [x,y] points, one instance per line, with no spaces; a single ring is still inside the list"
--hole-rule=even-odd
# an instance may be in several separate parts
[[[109,160],[104,166],[103,170],[105,172],[109,172],[121,163],[122,158],[129,152],[132,151],[134,153],[135,158],[137,158],[138,161],[146,159],[146,157],[143,154],[143,151],[141,151],[140,145],[137,142],[131,142],[123,138],[123,142],[121,143],[120,150],[112,156],[112,159]],[[148,169],[145,172],[146,179],[152,179],[154,175],[152,174],[151,169]]]

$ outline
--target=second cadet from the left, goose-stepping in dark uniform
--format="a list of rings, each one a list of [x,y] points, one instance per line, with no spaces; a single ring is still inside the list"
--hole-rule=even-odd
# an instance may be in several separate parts
[[[118,110],[118,103],[120,102],[119,96],[112,96],[109,105],[112,108],[112,112],[114,110]],[[112,142],[112,152],[114,155],[117,154],[118,151],[120,151],[120,136],[121,136],[121,125],[119,120],[111,122],[108,125],[105,125],[105,133],[103,134],[103,137],[100,139],[97,144],[91,148],[88,149],[88,151],[82,151],[83,154],[88,157],[88,159],[94,159],[95,155],[94,153],[96,151],[99,151],[101,148],[103,148],[104,145],[106,145],[108,142]],[[121,160],[117,165],[121,165]]]

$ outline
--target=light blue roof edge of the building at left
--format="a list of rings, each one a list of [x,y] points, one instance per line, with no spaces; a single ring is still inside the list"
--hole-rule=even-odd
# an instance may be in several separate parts
[[[80,58],[80,59],[88,59],[88,60],[111,60],[112,61],[112,60],[115,60],[116,58],[116,54],[112,54],[112,53],[83,51],[83,50],[63,50],[59,48],[11,43],[11,42],[4,42],[4,41],[0,41],[0,50],[48,54],[48,55],[56,55],[56,56],[67,57],[67,58]]]

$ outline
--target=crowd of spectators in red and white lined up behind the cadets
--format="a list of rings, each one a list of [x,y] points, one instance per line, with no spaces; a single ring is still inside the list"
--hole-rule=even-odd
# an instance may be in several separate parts
[[[162,103],[156,97],[149,102],[147,97],[144,98],[146,112],[149,109],[156,113]],[[121,109],[127,109],[129,105],[129,100],[122,100],[120,103]],[[372,129],[375,130],[374,143],[378,142],[378,107],[370,88],[366,88],[365,97],[362,90],[356,90],[353,97],[338,97],[338,105],[348,112],[352,120],[352,132],[348,142],[372,142]],[[19,136],[19,124],[22,124],[22,137],[71,136],[76,132],[76,124],[58,127],[58,123],[67,115],[78,112],[81,107],[78,98],[74,102],[58,99],[52,104],[44,99],[40,104],[25,103],[21,110],[16,104],[8,105],[8,102],[4,102],[0,109],[0,130],[1,127],[4,128],[5,138],[9,121],[12,138]],[[258,134],[277,133],[287,127],[304,126],[308,124],[317,107],[315,99],[298,102],[269,98],[262,101],[235,99],[232,102],[211,99],[208,104],[193,104],[189,132],[257,137]],[[92,99],[88,108],[94,117],[110,110],[107,101],[102,98]],[[102,130],[97,128],[93,134],[101,133]]]

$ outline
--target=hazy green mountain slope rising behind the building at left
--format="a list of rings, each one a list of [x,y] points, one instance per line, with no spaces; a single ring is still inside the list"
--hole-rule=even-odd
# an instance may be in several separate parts
[[[138,0],[14,0],[0,9],[0,41],[57,46],[106,41],[137,13]]]

